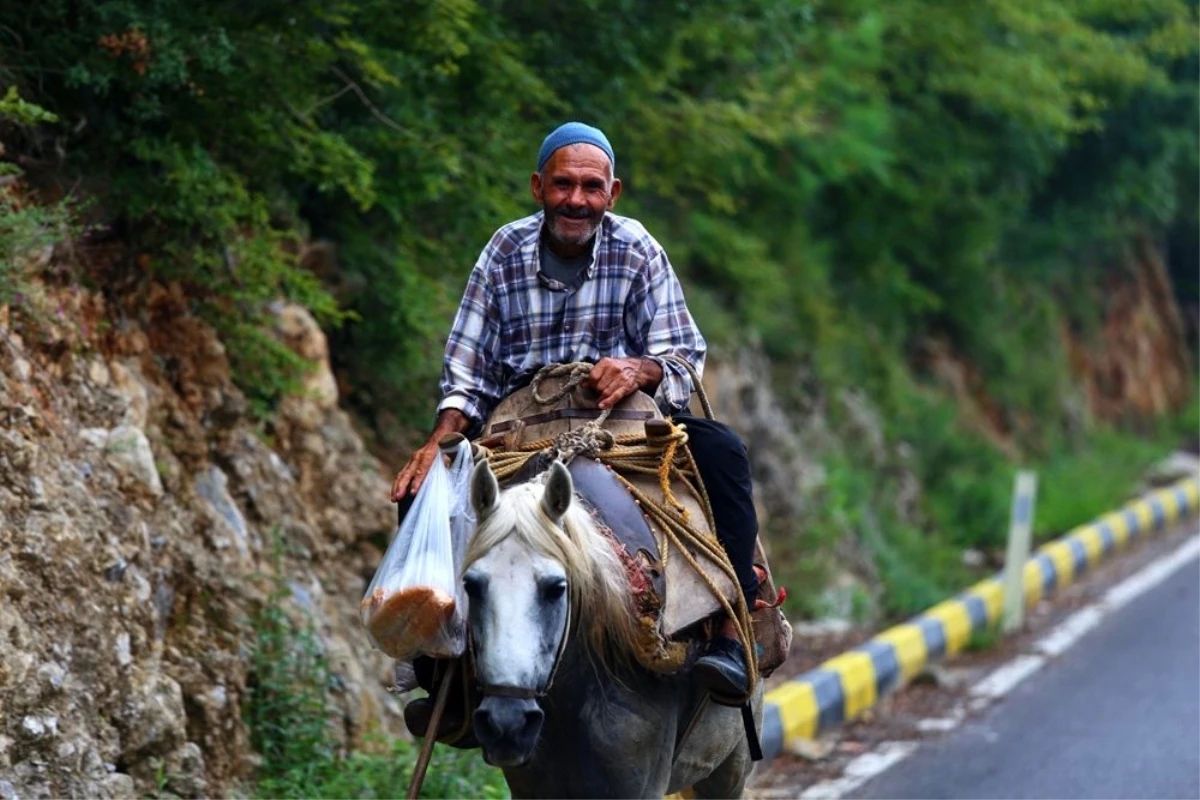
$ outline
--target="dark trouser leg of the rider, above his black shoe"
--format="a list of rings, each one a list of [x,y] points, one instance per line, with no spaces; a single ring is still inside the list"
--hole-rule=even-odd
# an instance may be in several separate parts
[[[758,515],[750,483],[750,456],[745,443],[727,425],[684,411],[674,421],[688,428],[688,446],[713,505],[716,539],[725,547],[738,584],[750,609],[758,594],[754,548],[758,540]]]

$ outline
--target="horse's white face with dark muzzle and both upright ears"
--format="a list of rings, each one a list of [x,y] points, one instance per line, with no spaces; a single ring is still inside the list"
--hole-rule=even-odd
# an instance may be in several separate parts
[[[560,519],[571,479],[552,469],[541,507]],[[496,509],[499,488],[486,467],[472,479],[472,503],[482,522]],[[473,716],[484,759],[517,766],[533,756],[545,717],[534,694],[548,688],[569,624],[566,571],[529,549],[518,537],[500,540],[463,573],[469,600],[475,679],[484,699]],[[511,694],[518,694],[514,697]]]

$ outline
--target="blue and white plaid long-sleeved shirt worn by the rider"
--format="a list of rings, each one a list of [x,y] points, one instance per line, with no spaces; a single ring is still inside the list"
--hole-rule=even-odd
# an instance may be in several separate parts
[[[691,378],[664,356],[704,368],[707,345],[662,247],[636,219],[605,213],[582,281],[540,270],[542,212],[492,236],[472,270],[446,341],[438,411],[484,421],[547,363],[648,356],[662,367],[654,399],[665,414],[688,405]]]

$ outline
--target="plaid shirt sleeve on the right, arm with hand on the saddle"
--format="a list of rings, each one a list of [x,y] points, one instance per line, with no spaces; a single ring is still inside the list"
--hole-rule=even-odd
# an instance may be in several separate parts
[[[683,287],[676,277],[666,251],[654,242],[646,263],[646,293],[632,293],[635,317],[641,315],[638,327],[646,331],[646,356],[662,367],[662,383],[654,393],[659,408],[667,413],[688,407],[691,401],[691,375],[673,361],[677,356],[688,361],[696,374],[704,373],[704,356],[708,344],[696,321],[688,311]]]

